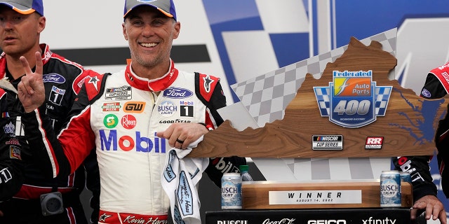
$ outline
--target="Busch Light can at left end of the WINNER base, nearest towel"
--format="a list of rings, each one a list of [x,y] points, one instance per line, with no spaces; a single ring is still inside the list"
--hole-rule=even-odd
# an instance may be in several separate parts
[[[239,173],[223,174],[222,209],[241,209],[241,176]]]

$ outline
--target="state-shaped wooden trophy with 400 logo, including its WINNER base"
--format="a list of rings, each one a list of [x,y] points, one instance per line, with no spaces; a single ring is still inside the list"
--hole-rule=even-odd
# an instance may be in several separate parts
[[[189,157],[389,158],[434,155],[442,99],[423,99],[388,74],[396,58],[372,41],[351,38],[321,78],[307,73],[282,120],[235,130],[226,120]],[[243,209],[380,207],[379,180],[243,183]],[[402,207],[413,205],[401,184]]]

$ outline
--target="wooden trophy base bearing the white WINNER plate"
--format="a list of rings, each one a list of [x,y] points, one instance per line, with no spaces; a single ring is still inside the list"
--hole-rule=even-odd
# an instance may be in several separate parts
[[[401,182],[401,204],[413,206],[410,183]],[[242,208],[380,208],[380,180],[243,182]]]

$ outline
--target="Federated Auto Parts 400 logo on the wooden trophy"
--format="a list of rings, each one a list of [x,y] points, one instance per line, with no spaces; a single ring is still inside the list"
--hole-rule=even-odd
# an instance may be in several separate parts
[[[373,71],[333,71],[333,82],[314,87],[322,117],[342,127],[363,127],[385,116],[392,86],[376,86]]]

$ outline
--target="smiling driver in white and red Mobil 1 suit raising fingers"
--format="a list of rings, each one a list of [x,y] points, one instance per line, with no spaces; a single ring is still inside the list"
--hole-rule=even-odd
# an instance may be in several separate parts
[[[50,123],[41,122],[48,120],[41,64],[33,72],[29,59],[21,58],[27,69],[19,85],[22,122],[27,140],[45,148],[36,156],[48,160],[47,151],[54,155],[53,162],[41,163],[46,173],[70,174],[96,148],[101,223],[164,223],[171,219],[161,184],[166,153],[172,147],[188,148],[220,125],[217,109],[226,106],[226,98],[220,78],[180,71],[170,59],[181,28],[173,1],[126,0],[123,19],[130,63],[122,71],[86,80],[58,137]],[[245,164],[246,158],[214,158],[206,173],[220,184],[222,172],[238,172]]]

